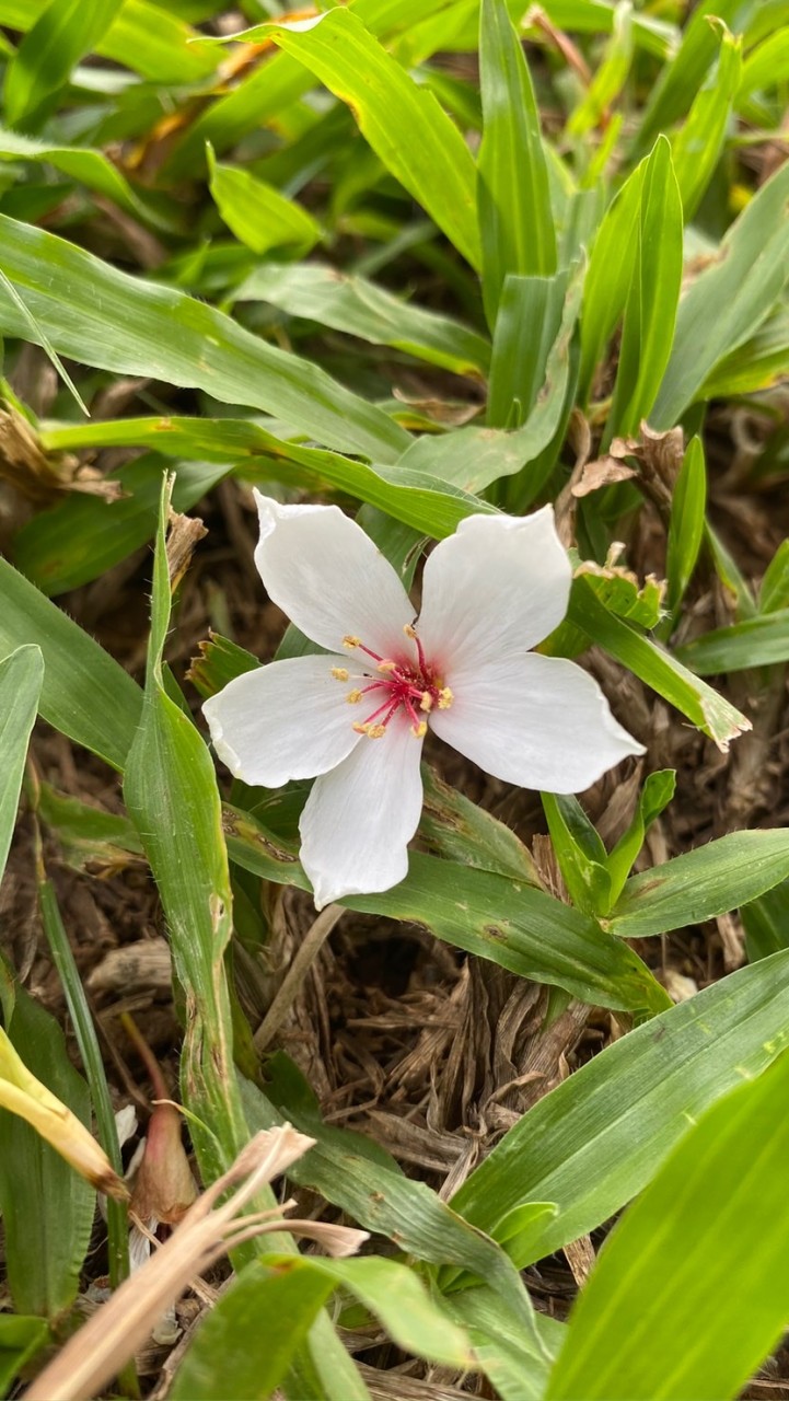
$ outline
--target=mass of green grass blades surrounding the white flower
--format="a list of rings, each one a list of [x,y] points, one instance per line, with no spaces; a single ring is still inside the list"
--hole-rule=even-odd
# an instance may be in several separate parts
[[[746,702],[783,696],[789,545],[754,590],[708,486],[725,471],[720,425],[730,444],[741,412],[758,427],[744,489],[786,474],[789,4],[240,11],[248,28],[228,35],[216,0],[0,0],[0,855],[38,705],[122,779],[128,815],[32,779],[27,803],[81,869],[109,850],[150,864],[188,1007],[181,1089],[203,1181],[252,1131],[290,1121],[317,1139],[294,1182],[374,1233],[342,1264],[247,1245],[172,1395],[362,1401],[335,1330],[362,1310],[405,1355],[479,1370],[503,1401],[734,1397],[789,1316],[789,832],[730,831],[645,870],[670,772],[645,778],[611,850],[577,800],[547,797],[565,901],[513,832],[426,773],[408,880],[343,904],[548,986],[554,1010],[573,998],[626,1028],[446,1202],[325,1125],[286,1058],[255,1052],[233,901],[261,883],[308,888],[291,821],[303,794],[237,786],[221,801],[195,691],[167,667],[165,527],[170,504],[265,483],[357,511],[408,583],[467,514],[554,502],[579,569],[549,650],[596,644],[711,750],[747,743]],[[49,396],[25,375],[31,347],[57,374]],[[146,384],[114,413],[128,377]],[[423,392],[395,394],[399,380]],[[125,451],[119,468],[109,450]],[[636,577],[638,552],[628,567],[611,553],[645,513],[664,588]],[[149,542],[142,678],[57,600]],[[689,602],[699,579],[729,609],[706,630]],[[280,654],[301,644],[290,629]],[[255,664],[214,636],[193,685],[209,695]],[[92,1103],[116,1159],[41,860],[35,880],[88,1083],[10,964],[4,1021],[56,1093],[83,1117]],[[740,906],[748,964],[671,1005],[643,941]],[[71,1327],[92,1202],[27,1125],[3,1135],[6,1394]],[[521,1271],[629,1202],[569,1323],[538,1313]],[[108,1229],[116,1282],[118,1208]],[[122,1384],[133,1394],[130,1374]]]

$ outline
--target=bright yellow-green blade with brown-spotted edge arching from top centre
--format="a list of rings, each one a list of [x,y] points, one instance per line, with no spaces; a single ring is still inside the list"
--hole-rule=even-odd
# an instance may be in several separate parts
[[[474,160],[434,95],[413,83],[352,10],[266,25],[265,32],[348,102],[387,170],[478,269]]]

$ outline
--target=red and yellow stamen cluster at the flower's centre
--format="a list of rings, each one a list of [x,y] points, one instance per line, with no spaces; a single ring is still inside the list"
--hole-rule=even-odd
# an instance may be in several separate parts
[[[343,647],[348,647],[349,651],[363,651],[364,656],[370,657],[376,663],[378,678],[373,679],[369,671],[352,678],[346,667],[332,667],[332,677],[336,681],[367,682],[367,685],[355,686],[348,692],[345,699],[349,705],[359,705],[366,695],[371,695],[378,702],[366,720],[356,722],[353,726],[357,734],[366,734],[369,740],[381,740],[398,710],[411,720],[411,733],[415,738],[422,740],[427,733],[425,716],[433,708],[448,710],[454,699],[450,688],[444,685],[443,678],[427,661],[415,628],[408,623],[402,630],[415,644],[415,660],[405,657],[395,661],[392,657],[381,657],[364,646],[360,637],[349,633],[342,639]]]

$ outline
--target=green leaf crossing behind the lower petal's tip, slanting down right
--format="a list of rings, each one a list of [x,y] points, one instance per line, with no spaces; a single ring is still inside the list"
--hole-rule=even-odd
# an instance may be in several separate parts
[[[226,808],[224,829],[238,866],[308,890],[293,849],[249,814]],[[541,890],[505,876],[412,852],[409,874],[399,885],[339,904],[426,925],[455,948],[601,1007],[657,1012],[666,1006],[663,989],[626,944]]]

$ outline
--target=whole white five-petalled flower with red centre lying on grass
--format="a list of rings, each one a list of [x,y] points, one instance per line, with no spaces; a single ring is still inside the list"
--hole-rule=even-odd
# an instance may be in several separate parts
[[[568,608],[552,507],[464,520],[426,560],[413,622],[394,569],[336,506],[255,496],[266,591],[331,656],[249,671],[203,709],[237,778],[315,778],[300,832],[318,909],[406,876],[427,727],[495,778],[551,793],[643,754],[586,671],[530,651]]]

